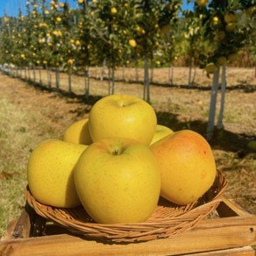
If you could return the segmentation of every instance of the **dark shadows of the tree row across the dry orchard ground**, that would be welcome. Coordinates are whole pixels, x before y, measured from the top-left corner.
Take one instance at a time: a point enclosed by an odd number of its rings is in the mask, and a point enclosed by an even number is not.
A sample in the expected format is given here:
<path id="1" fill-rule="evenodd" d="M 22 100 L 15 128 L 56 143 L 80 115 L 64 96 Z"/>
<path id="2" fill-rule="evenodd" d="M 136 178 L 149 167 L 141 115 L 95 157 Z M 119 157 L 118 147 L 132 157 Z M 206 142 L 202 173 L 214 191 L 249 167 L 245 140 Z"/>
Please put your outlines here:
<path id="1" fill-rule="evenodd" d="M 68 92 L 66 90 L 56 89 L 56 88 L 48 88 L 46 86 L 42 86 L 39 83 L 30 83 L 34 88 L 40 89 L 40 90 L 46 90 L 50 93 L 53 93 L 50 97 L 60 96 L 62 98 L 65 98 L 67 103 L 81 103 L 81 107 L 78 107 L 75 110 L 72 110 L 72 112 L 75 112 L 77 117 L 82 117 L 84 114 L 89 113 L 92 105 L 96 103 L 99 99 L 102 98 L 102 96 L 84 96 L 84 95 L 77 95 L 73 92 Z M 181 88 L 185 88 L 185 86 L 181 86 Z M 187 86 L 188 89 L 191 89 L 191 86 Z M 195 89 L 200 89 L 197 86 L 195 86 Z M 205 87 L 202 89 L 206 89 Z M 230 89 L 242 89 L 245 90 L 244 87 L 234 87 Z M 250 88 L 248 89 L 248 86 L 246 86 L 247 92 L 253 92 L 255 89 Z M 206 137 L 206 131 L 207 131 L 207 122 L 203 120 L 182 120 L 181 117 L 178 117 L 177 114 L 174 114 L 172 112 L 163 112 L 159 111 L 157 112 L 158 117 L 158 123 L 166 125 L 173 129 L 175 132 L 180 131 L 183 129 L 189 129 L 195 132 L 200 133 L 203 135 L 203 137 Z M 238 157 L 244 157 L 247 153 L 249 153 L 248 148 L 246 147 L 246 144 L 251 141 L 255 140 L 256 135 L 248 135 L 245 133 L 234 133 L 227 130 L 217 130 L 217 127 L 215 127 L 215 132 L 213 134 L 213 138 L 209 141 L 210 146 L 213 149 L 221 149 L 226 152 L 234 152 L 238 153 Z"/>

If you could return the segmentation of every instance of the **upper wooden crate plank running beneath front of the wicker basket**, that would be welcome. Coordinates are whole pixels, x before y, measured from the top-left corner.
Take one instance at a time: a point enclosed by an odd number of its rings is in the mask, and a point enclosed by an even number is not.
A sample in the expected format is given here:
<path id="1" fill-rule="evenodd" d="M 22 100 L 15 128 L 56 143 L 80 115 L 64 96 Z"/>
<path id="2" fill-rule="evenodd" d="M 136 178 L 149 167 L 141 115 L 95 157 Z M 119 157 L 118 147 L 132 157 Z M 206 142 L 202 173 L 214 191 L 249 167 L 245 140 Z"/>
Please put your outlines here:
<path id="1" fill-rule="evenodd" d="M 61 234 L 0 243 L 1 255 L 177 255 L 256 245 L 256 217 L 203 220 L 192 231 L 145 243 L 117 245 Z"/>

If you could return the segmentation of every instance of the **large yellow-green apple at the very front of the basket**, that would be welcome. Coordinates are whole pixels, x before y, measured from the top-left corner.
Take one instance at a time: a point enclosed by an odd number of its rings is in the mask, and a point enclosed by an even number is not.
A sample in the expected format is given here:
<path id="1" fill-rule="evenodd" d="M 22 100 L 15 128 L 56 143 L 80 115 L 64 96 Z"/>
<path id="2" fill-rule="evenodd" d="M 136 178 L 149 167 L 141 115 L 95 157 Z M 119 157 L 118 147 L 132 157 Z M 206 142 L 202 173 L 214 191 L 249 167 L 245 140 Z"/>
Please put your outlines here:
<path id="1" fill-rule="evenodd" d="M 160 197 L 160 169 L 148 146 L 134 139 L 102 139 L 78 160 L 75 188 L 96 223 L 144 222 Z"/>

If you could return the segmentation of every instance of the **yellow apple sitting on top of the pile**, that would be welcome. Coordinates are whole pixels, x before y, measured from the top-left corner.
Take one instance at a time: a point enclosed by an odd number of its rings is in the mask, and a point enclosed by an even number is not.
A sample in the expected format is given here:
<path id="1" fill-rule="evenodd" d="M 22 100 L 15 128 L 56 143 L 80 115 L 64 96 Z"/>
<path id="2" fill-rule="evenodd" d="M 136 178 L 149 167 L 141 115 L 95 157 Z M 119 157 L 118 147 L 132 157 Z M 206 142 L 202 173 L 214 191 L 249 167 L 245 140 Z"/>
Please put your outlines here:
<path id="1" fill-rule="evenodd" d="M 156 124 L 153 107 L 136 96 L 105 96 L 89 112 L 89 133 L 93 142 L 121 137 L 137 139 L 148 146 Z"/>

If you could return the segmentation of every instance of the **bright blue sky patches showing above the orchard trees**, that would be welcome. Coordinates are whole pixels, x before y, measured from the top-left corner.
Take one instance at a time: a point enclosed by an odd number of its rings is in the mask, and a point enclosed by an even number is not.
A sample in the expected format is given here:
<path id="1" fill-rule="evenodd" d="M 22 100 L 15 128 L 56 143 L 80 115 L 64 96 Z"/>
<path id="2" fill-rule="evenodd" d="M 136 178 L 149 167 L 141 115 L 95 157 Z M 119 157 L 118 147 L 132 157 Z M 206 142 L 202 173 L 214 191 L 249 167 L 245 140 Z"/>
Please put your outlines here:
<path id="1" fill-rule="evenodd" d="M 0 0 L 0 17 L 3 17 L 4 13 L 7 13 L 8 16 L 16 16 L 19 7 L 25 13 L 25 3 L 27 1 L 29 0 Z M 183 2 L 183 8 L 188 9 L 187 1 L 185 0 Z M 75 8 L 76 0 L 68 0 L 68 3 Z"/>

